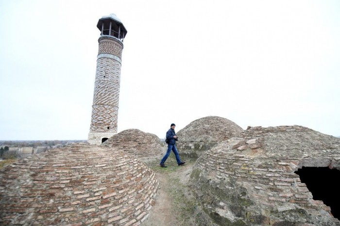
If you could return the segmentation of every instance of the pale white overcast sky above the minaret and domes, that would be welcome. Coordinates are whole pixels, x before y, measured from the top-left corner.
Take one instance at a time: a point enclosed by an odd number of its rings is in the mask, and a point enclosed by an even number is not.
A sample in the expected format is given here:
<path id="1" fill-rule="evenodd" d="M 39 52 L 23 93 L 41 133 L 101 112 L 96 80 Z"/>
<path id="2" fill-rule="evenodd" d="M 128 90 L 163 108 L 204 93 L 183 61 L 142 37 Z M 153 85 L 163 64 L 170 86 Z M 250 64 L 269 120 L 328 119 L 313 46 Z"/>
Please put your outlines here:
<path id="1" fill-rule="evenodd" d="M 212 115 L 340 136 L 339 0 L 0 0 L 0 140 L 87 140 L 111 13 L 118 132 Z"/>

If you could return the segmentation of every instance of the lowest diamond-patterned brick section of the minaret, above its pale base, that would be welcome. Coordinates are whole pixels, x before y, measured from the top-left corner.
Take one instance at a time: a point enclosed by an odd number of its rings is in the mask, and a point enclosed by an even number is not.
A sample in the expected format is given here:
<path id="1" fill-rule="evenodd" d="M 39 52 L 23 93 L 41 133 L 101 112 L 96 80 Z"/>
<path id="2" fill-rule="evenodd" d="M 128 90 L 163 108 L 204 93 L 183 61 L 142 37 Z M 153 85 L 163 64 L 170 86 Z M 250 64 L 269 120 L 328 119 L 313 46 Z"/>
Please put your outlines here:
<path id="1" fill-rule="evenodd" d="M 112 105 L 93 105 L 90 131 L 117 132 L 117 120 L 118 107 Z"/>

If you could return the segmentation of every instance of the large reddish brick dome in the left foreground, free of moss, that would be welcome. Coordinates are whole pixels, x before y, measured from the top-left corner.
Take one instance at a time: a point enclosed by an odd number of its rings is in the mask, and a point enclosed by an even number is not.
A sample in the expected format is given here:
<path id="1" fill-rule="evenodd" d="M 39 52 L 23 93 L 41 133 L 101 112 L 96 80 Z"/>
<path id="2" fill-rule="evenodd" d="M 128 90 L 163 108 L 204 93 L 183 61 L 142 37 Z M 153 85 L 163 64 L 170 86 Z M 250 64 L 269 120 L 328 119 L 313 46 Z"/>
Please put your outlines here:
<path id="1" fill-rule="evenodd" d="M 115 147 L 73 144 L 0 169 L 0 225 L 140 225 L 158 180 Z"/>

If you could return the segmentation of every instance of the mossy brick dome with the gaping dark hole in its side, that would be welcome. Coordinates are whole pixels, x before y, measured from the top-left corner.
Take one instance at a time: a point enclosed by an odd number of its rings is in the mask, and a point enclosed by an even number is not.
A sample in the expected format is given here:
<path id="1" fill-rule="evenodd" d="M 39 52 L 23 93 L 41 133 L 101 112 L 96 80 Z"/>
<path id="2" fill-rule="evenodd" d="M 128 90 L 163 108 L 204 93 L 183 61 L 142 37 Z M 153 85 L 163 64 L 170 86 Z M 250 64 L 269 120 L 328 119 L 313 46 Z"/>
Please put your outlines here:
<path id="1" fill-rule="evenodd" d="M 295 173 L 302 167 L 340 170 L 340 139 L 301 126 L 249 128 L 204 152 L 189 184 L 226 225 L 339 226 Z"/>

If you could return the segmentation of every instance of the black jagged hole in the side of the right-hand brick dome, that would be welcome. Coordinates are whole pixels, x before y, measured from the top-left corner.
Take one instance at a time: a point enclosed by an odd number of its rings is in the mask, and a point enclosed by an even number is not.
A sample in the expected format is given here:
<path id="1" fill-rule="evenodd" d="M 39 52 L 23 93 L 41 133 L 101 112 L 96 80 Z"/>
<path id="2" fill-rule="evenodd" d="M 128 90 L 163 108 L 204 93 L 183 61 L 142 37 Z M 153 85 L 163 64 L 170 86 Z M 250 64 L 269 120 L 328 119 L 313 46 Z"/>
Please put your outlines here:
<path id="1" fill-rule="evenodd" d="M 340 220 L 340 193 L 337 183 L 340 170 L 328 167 L 302 167 L 295 171 L 312 193 L 314 200 L 322 200 L 331 208 L 331 213 Z"/>

